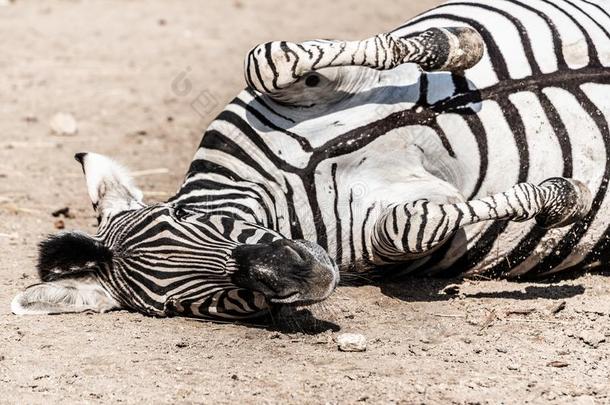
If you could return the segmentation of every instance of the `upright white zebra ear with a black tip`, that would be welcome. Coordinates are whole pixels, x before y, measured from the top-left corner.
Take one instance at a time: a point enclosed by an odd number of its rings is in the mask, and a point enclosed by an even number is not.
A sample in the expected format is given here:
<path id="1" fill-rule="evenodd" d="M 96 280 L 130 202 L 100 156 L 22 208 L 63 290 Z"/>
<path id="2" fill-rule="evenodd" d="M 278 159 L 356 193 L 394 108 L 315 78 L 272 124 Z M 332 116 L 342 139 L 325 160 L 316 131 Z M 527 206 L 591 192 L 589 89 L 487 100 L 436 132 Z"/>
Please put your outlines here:
<path id="1" fill-rule="evenodd" d="M 87 191 L 100 219 L 145 206 L 142 191 L 123 166 L 96 153 L 77 153 L 74 158 L 83 167 Z"/>

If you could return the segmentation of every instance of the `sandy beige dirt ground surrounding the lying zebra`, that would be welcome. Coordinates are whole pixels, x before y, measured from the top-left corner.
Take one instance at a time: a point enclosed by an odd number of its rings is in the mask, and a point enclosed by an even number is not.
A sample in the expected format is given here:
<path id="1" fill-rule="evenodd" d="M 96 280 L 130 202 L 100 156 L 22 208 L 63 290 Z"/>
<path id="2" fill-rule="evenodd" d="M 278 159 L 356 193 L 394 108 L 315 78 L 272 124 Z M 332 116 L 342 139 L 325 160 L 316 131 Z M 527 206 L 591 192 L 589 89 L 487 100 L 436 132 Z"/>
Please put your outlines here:
<path id="1" fill-rule="evenodd" d="M 0 402 L 610 403 L 607 276 L 341 287 L 272 327 L 10 314 L 53 211 L 95 230 L 75 152 L 116 157 L 165 199 L 250 47 L 369 36 L 434 3 L 0 0 Z M 50 133 L 58 112 L 76 135 Z M 338 351 L 342 332 L 366 352 Z"/>

